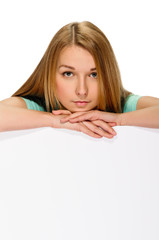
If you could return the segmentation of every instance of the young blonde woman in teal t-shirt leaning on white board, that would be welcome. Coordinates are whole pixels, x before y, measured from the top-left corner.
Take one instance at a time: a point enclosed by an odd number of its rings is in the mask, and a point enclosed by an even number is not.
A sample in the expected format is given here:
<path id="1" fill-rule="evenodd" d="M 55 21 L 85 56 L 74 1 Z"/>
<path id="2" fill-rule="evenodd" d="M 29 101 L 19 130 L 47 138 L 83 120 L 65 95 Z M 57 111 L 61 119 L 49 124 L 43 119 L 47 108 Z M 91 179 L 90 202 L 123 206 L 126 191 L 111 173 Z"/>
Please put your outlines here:
<path id="1" fill-rule="evenodd" d="M 53 37 L 29 79 L 0 102 L 0 131 L 67 128 L 112 138 L 114 126 L 159 128 L 159 99 L 124 89 L 112 47 L 90 22 Z"/>

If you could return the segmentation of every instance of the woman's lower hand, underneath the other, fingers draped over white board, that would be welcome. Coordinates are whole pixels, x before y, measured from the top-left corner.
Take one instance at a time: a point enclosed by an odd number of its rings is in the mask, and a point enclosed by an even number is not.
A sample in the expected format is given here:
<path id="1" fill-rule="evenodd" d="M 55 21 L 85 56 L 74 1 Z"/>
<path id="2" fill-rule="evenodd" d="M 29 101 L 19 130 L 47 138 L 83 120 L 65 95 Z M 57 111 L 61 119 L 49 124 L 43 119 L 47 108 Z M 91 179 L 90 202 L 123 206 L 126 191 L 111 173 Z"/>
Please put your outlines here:
<path id="1" fill-rule="evenodd" d="M 112 138 L 114 135 L 116 135 L 116 132 L 114 131 L 114 129 L 111 126 L 109 126 L 109 124 L 106 124 L 102 120 L 101 121 L 100 120 L 79 121 L 76 123 L 68 122 L 68 120 L 67 120 L 68 118 L 77 116 L 77 114 L 81 115 L 83 113 L 84 112 L 71 114 L 71 112 L 69 112 L 68 110 L 53 111 L 53 114 L 56 116 L 55 120 L 57 121 L 56 124 L 54 122 L 53 127 L 62 127 L 62 128 L 77 130 L 77 131 L 84 132 L 85 134 L 87 134 L 89 136 L 97 137 L 97 138 L 99 138 L 99 137 Z M 112 126 L 114 126 L 114 123 L 112 124 Z"/>

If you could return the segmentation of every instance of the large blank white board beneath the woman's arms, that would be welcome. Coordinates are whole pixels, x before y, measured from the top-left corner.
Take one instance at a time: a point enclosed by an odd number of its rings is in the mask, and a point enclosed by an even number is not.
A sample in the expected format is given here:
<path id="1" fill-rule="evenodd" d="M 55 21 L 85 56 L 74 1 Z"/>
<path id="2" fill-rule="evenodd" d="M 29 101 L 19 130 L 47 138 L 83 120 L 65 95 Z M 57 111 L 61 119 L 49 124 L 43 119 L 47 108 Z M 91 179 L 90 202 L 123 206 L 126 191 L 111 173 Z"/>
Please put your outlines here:
<path id="1" fill-rule="evenodd" d="M 159 129 L 0 134 L 1 240 L 158 240 Z"/>

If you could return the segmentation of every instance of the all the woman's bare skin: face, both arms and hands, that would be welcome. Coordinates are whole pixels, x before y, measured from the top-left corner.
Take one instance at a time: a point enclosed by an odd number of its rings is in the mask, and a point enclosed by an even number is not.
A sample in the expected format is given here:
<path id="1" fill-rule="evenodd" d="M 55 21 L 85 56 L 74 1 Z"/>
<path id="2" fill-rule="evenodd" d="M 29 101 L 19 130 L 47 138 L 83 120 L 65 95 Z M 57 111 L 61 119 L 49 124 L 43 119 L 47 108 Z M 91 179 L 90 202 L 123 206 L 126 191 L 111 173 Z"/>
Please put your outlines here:
<path id="1" fill-rule="evenodd" d="M 56 87 L 64 110 L 53 113 L 29 110 L 22 98 L 10 97 L 0 101 L 0 132 L 52 127 L 80 131 L 94 138 L 113 138 L 114 126 L 159 128 L 159 98 L 143 96 L 137 102 L 137 111 L 128 113 L 95 110 L 98 76 L 90 53 L 72 46 L 63 49 L 58 60 Z M 59 68 L 65 64 L 71 68 Z"/>

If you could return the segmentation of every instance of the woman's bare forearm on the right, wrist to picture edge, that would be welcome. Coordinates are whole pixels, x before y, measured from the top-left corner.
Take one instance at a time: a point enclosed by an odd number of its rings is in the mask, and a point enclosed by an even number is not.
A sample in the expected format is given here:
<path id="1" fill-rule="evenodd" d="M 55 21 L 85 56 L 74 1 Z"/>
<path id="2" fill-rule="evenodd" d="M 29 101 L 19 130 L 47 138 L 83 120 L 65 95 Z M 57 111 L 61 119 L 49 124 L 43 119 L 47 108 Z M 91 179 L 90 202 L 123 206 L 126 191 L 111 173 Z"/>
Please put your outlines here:
<path id="1" fill-rule="evenodd" d="M 159 106 L 122 113 L 120 125 L 159 128 Z"/>

